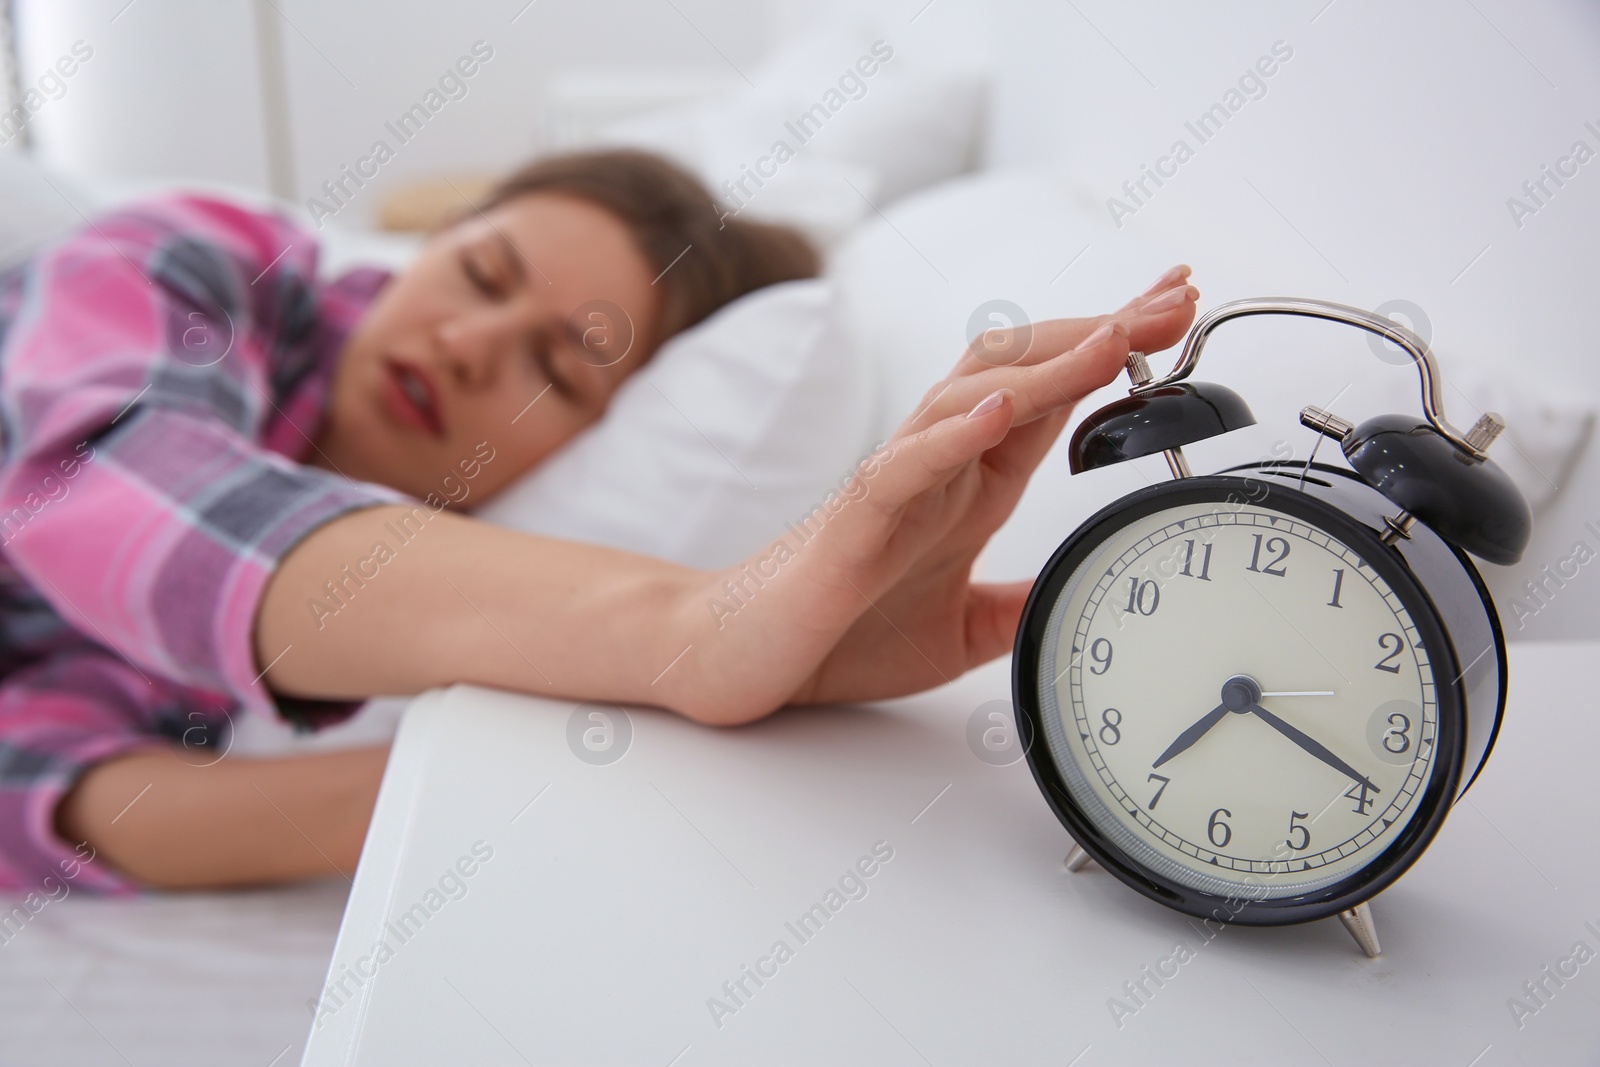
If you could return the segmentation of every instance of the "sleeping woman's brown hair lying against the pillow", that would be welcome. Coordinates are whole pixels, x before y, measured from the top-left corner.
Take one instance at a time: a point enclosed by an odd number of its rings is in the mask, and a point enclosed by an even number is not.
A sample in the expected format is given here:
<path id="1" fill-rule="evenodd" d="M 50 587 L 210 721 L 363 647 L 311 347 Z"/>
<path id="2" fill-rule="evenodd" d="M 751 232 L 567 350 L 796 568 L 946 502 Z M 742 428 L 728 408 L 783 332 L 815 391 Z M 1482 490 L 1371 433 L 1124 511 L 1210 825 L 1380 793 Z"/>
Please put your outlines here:
<path id="1" fill-rule="evenodd" d="M 659 275 L 661 338 L 778 282 L 813 278 L 819 258 L 798 230 L 726 214 L 677 163 L 630 149 L 557 155 L 506 176 L 482 205 L 530 194 L 587 200 L 616 216 Z"/>

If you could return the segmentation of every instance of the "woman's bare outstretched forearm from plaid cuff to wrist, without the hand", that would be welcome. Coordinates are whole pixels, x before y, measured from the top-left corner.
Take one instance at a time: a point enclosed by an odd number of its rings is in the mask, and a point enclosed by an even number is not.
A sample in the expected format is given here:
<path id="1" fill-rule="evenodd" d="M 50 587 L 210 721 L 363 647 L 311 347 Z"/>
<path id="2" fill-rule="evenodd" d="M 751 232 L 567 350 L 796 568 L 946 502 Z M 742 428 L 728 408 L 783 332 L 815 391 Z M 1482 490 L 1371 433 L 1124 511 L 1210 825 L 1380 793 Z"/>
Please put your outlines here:
<path id="1" fill-rule="evenodd" d="M 424 506 L 370 507 L 288 553 L 261 601 L 256 656 L 269 686 L 293 696 L 472 681 L 686 712 L 690 694 L 651 683 L 691 640 L 685 608 L 704 582 Z"/>

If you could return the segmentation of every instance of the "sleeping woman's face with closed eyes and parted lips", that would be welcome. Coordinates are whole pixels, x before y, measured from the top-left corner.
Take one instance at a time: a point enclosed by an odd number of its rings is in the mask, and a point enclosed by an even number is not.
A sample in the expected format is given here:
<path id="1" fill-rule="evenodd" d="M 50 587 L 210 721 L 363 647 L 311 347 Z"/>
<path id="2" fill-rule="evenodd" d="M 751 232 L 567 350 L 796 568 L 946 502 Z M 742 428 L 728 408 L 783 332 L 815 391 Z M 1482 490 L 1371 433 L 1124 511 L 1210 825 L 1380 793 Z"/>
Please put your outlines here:
<path id="1" fill-rule="evenodd" d="M 472 214 L 350 334 L 312 462 L 482 504 L 605 413 L 659 320 L 653 272 L 605 210 L 530 194 Z"/>

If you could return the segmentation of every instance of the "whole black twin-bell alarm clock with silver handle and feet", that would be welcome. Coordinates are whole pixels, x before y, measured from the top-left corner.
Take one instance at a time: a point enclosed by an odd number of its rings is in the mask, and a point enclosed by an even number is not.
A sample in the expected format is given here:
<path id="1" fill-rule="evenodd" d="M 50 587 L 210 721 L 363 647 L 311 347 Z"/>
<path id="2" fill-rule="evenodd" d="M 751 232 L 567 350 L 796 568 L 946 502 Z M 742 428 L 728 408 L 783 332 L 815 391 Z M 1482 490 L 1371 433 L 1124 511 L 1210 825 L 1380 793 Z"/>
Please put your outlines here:
<path id="1" fill-rule="evenodd" d="M 1194 475 L 1182 446 L 1251 426 L 1187 381 L 1246 315 L 1366 330 L 1405 350 L 1422 419 L 1301 422 L 1349 467 L 1270 461 Z M 1070 440 L 1072 474 L 1152 456 L 1170 482 L 1085 522 L 1024 608 L 1013 705 L 1034 779 L 1098 862 L 1187 915 L 1277 926 L 1338 915 L 1370 957 L 1370 901 L 1438 833 L 1506 705 L 1506 640 L 1470 557 L 1515 563 L 1531 514 L 1486 456 L 1494 414 L 1445 421 L 1427 344 L 1371 312 L 1296 298 L 1222 304 L 1176 368 L 1128 357 L 1125 400 Z"/>

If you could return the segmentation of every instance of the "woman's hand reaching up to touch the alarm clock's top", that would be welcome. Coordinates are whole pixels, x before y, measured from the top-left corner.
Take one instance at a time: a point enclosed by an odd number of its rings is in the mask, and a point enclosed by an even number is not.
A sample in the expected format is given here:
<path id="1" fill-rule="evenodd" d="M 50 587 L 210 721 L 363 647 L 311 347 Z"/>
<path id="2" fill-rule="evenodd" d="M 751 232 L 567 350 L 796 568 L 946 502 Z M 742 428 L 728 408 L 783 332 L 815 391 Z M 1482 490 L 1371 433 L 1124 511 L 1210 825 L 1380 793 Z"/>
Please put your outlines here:
<path id="1" fill-rule="evenodd" d="M 686 672 L 701 693 L 674 704 L 701 721 L 749 721 L 784 702 L 915 693 L 1010 651 L 1032 582 L 971 584 L 973 561 L 1074 405 L 1115 379 L 1130 349 L 1184 338 L 1198 296 L 1187 275 L 1168 270 L 1112 315 L 1037 323 L 1005 366 L 990 354 L 1014 336 L 974 341 L 814 537 L 757 557 L 776 573 L 757 582 L 747 561 L 715 576 L 715 645 Z M 734 595 L 717 601 L 728 581 Z"/>

